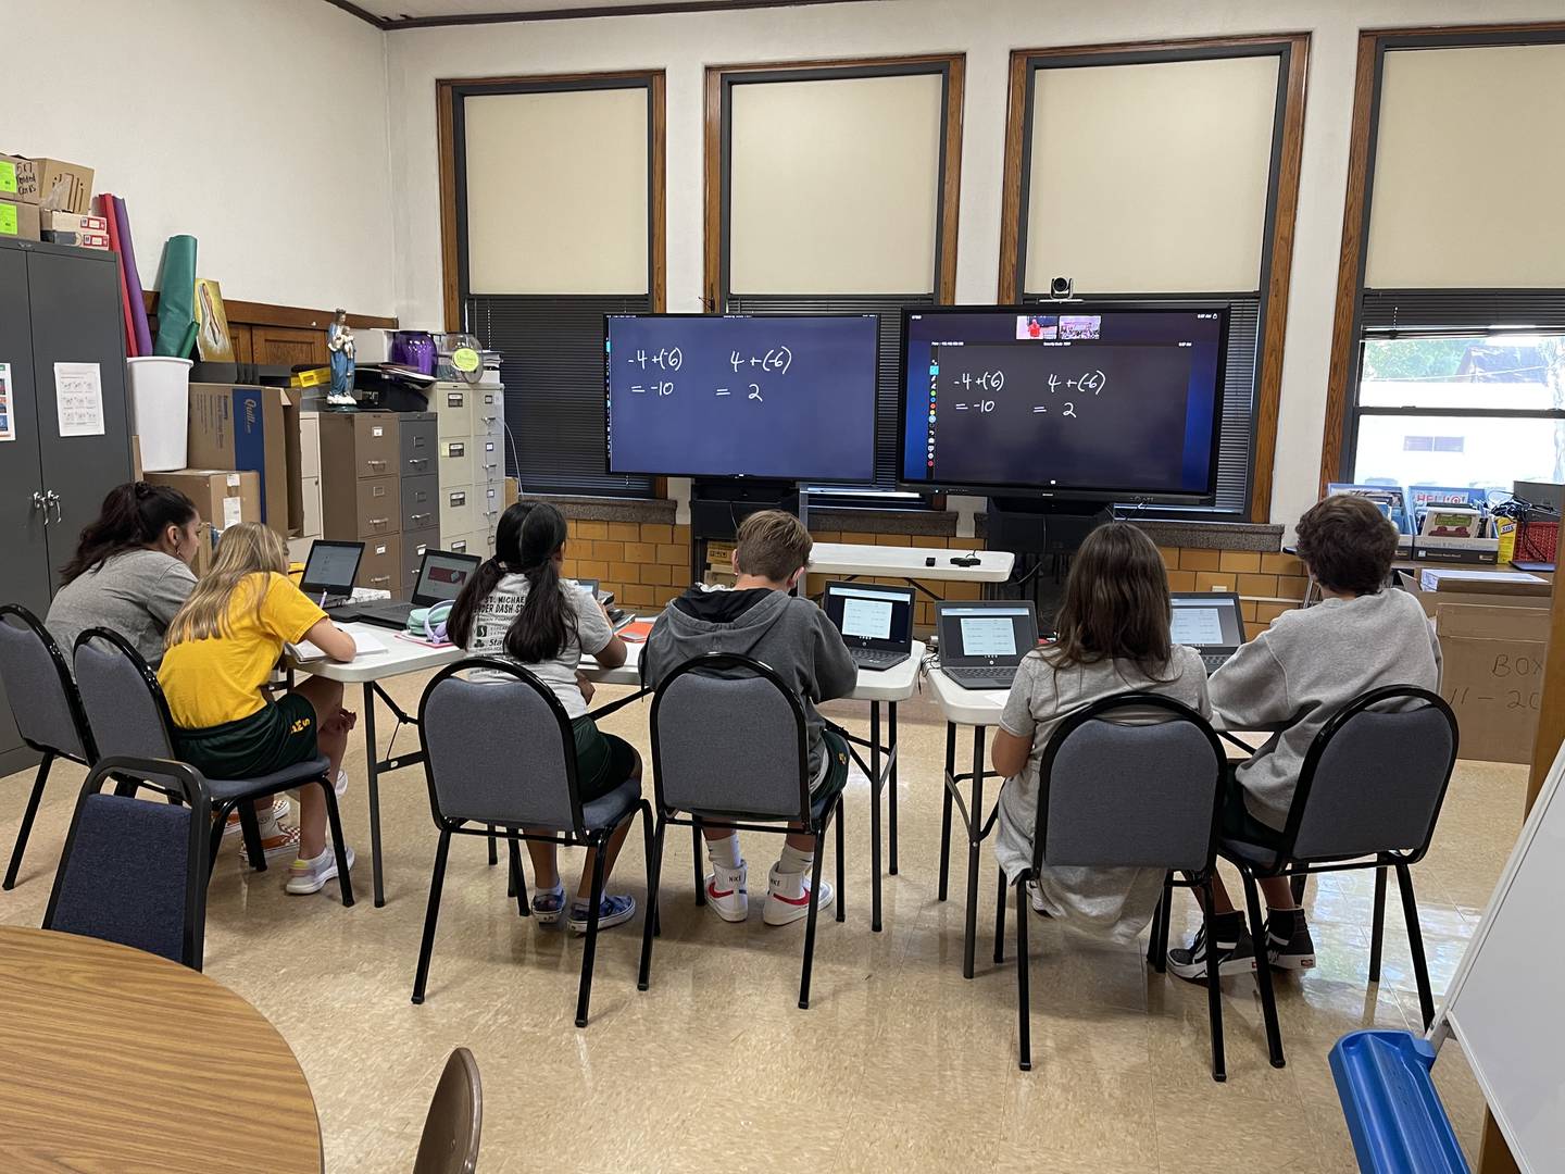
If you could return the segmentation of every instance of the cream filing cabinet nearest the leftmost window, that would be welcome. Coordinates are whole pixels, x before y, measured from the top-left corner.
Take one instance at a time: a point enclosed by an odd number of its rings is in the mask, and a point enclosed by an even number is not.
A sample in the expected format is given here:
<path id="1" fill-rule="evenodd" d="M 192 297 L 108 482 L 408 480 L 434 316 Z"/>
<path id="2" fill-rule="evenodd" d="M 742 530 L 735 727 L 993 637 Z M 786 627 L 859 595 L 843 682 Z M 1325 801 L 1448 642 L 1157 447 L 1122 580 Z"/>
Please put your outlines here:
<path id="1" fill-rule="evenodd" d="M 487 559 L 505 509 L 505 388 L 441 380 L 430 388 L 429 405 L 440 420 L 443 549 Z"/>

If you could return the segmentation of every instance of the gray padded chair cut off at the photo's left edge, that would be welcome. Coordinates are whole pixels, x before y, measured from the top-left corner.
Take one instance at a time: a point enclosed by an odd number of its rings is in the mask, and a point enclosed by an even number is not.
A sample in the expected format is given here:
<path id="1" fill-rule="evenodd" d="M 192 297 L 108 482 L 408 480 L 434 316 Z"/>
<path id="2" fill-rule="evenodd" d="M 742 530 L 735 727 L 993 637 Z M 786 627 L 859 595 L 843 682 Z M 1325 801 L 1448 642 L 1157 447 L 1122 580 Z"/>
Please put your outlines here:
<path id="1" fill-rule="evenodd" d="M 88 765 L 95 753 L 92 731 L 81 712 L 81 697 L 70 679 L 64 654 L 38 617 L 14 603 L 0 607 L 0 682 L 5 684 L 17 733 L 30 748 L 44 756 L 33 776 L 22 828 L 16 833 L 16 847 L 5 870 L 3 888 L 14 889 L 27 839 L 33 834 L 38 803 L 49 781 L 49 769 L 56 758 Z"/>

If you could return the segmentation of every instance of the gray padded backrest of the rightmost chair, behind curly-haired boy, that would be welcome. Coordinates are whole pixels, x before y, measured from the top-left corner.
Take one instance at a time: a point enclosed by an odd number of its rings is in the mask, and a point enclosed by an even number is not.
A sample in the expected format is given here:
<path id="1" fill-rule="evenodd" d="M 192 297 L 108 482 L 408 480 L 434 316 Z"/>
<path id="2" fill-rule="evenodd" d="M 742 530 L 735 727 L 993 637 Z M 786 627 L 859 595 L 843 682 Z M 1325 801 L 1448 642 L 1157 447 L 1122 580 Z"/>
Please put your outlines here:
<path id="1" fill-rule="evenodd" d="M 1423 845 L 1451 753 L 1451 726 L 1434 706 L 1347 718 L 1316 764 L 1293 855 L 1352 858 Z"/>

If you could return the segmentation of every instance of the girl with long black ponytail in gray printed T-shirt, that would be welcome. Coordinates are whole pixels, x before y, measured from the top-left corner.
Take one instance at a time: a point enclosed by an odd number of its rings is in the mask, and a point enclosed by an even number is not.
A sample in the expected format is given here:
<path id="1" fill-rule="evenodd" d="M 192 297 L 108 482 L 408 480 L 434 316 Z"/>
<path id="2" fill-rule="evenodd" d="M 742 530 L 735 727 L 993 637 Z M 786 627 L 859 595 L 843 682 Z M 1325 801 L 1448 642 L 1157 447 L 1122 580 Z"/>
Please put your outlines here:
<path id="1" fill-rule="evenodd" d="M 613 634 L 609 615 L 590 593 L 560 578 L 565 557 L 565 517 L 554 506 L 515 504 L 495 531 L 495 557 L 479 567 L 457 596 L 446 631 L 473 656 L 515 661 L 537 676 L 565 706 L 576 739 L 576 778 L 582 801 L 592 801 L 634 781 L 640 789 L 642 759 L 623 739 L 604 734 L 587 715 L 592 682 L 579 672 L 582 654 L 604 668 L 624 664 L 624 642 Z M 484 679 L 484 673 L 474 673 Z M 606 848 L 604 877 L 613 869 L 629 822 L 621 823 Z M 527 828 L 549 834 L 546 828 Z M 535 891 L 532 913 L 545 925 L 565 916 L 554 844 L 527 841 Z M 587 853 L 581 884 L 570 909 L 570 927 L 587 931 L 592 903 L 593 855 Z M 621 925 L 635 916 L 635 899 L 606 895 L 598 928 Z"/>

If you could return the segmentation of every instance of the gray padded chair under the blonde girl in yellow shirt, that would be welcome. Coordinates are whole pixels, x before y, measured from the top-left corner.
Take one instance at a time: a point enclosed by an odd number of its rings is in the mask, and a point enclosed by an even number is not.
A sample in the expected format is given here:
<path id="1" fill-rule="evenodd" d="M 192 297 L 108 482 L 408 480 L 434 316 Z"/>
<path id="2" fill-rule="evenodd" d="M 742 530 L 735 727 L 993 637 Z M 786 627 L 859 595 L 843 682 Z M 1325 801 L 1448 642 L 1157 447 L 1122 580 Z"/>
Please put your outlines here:
<path id="1" fill-rule="evenodd" d="M 108 628 L 88 628 L 77 637 L 75 648 L 77 687 L 88 720 L 94 725 L 94 742 L 100 754 L 113 758 L 152 758 L 178 761 L 174 748 L 174 718 L 163 697 L 158 675 L 141 659 L 141 654 L 119 632 Z M 318 784 L 326 794 L 326 817 L 336 852 L 336 878 L 343 905 L 354 903 L 354 881 L 347 873 L 347 853 L 343 847 L 343 820 L 336 809 L 336 789 L 327 775 L 326 758 L 257 778 L 205 778 L 202 783 L 211 800 L 211 845 L 208 870 L 218 862 L 222 848 L 222 830 L 228 812 L 238 809 L 239 826 L 244 830 L 250 866 L 266 870 L 266 853 L 261 852 L 257 833 L 254 800 L 271 798 L 283 790 Z M 197 772 L 199 775 L 200 772 Z M 156 780 L 121 773 L 119 794 L 135 794 L 142 783 L 156 786 Z M 172 794 L 171 798 L 178 798 Z"/>

